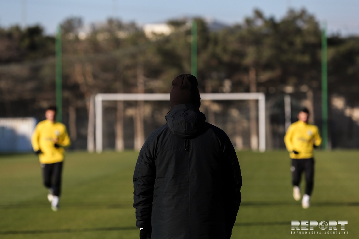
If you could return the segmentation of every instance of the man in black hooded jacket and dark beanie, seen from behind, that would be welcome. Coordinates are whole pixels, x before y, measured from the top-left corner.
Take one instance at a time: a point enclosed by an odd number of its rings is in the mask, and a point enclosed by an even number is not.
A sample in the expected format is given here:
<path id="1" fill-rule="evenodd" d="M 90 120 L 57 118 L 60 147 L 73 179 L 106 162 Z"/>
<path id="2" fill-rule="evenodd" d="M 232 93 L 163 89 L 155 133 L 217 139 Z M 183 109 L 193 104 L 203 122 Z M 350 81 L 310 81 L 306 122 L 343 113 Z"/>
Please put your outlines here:
<path id="1" fill-rule="evenodd" d="M 134 172 L 140 239 L 228 239 L 241 203 L 242 175 L 223 130 L 199 111 L 195 76 L 172 81 L 167 124 L 144 143 Z"/>

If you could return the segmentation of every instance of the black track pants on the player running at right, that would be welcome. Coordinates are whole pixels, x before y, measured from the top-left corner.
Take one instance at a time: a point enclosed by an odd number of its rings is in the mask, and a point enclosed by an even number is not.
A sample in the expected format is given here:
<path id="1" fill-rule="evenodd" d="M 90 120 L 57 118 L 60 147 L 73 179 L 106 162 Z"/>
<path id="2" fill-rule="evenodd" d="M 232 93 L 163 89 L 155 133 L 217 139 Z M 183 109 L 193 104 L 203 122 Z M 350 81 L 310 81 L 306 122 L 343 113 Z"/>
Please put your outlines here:
<path id="1" fill-rule="evenodd" d="M 314 184 L 314 159 L 293 159 L 292 158 L 293 186 L 299 186 L 302 172 L 306 176 L 306 194 L 311 195 Z"/>

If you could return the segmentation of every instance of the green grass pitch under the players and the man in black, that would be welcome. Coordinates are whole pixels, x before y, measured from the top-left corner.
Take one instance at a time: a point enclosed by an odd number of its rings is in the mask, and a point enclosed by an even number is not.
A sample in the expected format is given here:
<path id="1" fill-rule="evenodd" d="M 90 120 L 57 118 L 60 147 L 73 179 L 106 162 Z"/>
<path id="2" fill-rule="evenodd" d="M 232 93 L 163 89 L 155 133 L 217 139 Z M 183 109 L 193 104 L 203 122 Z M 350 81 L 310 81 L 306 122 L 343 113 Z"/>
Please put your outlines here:
<path id="1" fill-rule="evenodd" d="M 316 153 L 312 206 L 292 198 L 284 151 L 238 152 L 243 187 L 232 238 L 358 238 L 358 151 Z M 139 238 L 132 208 L 137 153 L 71 152 L 53 212 L 32 154 L 0 155 L 0 238 Z M 304 186 L 304 185 L 303 185 Z M 348 220 L 349 234 L 291 235 L 291 220 Z"/>

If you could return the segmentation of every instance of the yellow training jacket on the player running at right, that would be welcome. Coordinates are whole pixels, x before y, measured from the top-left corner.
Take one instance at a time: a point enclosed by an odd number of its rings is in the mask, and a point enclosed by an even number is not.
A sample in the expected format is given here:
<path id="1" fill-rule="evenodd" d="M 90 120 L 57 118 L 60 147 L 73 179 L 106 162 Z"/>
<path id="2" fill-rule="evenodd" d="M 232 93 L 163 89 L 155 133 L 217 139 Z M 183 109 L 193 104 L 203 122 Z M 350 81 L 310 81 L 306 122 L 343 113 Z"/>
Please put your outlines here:
<path id="1" fill-rule="evenodd" d="M 284 136 L 284 143 L 290 152 L 290 158 L 307 159 L 313 157 L 313 144 L 319 146 L 322 138 L 317 126 L 298 120 L 289 126 Z M 293 150 L 299 154 L 294 154 Z"/>

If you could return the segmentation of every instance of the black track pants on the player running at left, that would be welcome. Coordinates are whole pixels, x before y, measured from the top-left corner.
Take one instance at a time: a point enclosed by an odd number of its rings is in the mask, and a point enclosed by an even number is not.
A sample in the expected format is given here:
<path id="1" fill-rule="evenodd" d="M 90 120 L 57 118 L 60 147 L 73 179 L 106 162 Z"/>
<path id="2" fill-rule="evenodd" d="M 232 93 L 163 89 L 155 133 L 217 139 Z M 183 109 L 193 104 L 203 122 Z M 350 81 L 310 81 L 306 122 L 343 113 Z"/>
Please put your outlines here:
<path id="1" fill-rule="evenodd" d="M 61 193 L 62 164 L 63 162 L 41 164 L 45 187 L 52 188 L 53 195 L 58 197 Z"/>

